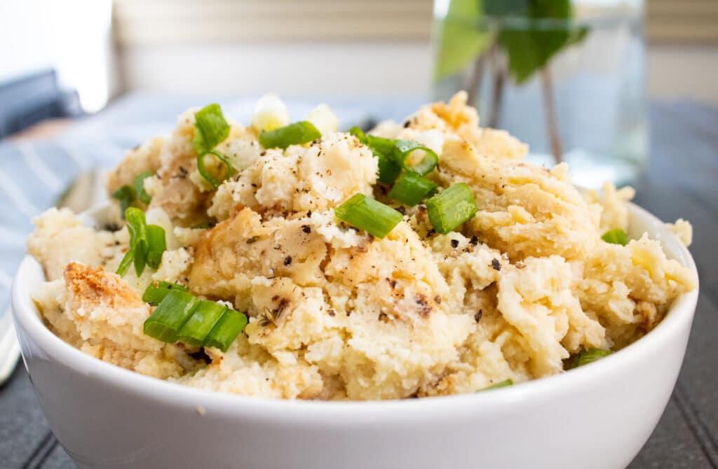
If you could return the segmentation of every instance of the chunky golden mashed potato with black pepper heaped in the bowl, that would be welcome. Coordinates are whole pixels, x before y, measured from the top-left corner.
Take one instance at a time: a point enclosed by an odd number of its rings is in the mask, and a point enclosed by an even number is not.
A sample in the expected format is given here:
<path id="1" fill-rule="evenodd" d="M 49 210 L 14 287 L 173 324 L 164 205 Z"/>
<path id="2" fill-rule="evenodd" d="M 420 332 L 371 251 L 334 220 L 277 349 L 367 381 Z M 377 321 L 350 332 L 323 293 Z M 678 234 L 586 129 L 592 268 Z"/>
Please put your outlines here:
<path id="1" fill-rule="evenodd" d="M 391 201 L 377 158 L 334 131 L 325 105 L 307 118 L 322 137 L 285 150 L 258 141 L 260 123 L 286 124 L 281 102 L 273 101 L 281 115 L 260 106 L 253 125 L 232 123 L 216 149 L 236 174 L 208 186 L 190 110 L 108 178 L 112 193 L 154 174 L 144 181 L 151 202 L 140 207 L 167 232 L 159 268 L 121 278 L 113 272 L 127 229 L 95 231 L 50 209 L 28 243 L 48 280 L 34 300 L 69 344 L 159 379 L 285 399 L 401 399 L 561 373 L 572 354 L 640 338 L 696 288 L 657 240 L 601 239 L 628 227 L 632 189 L 582 194 L 564 164 L 529 164 L 525 144 L 480 128 L 466 99 L 459 93 L 374 132 L 435 151 L 439 166 L 426 177 L 440 188 L 470 187 L 478 212 L 455 232 L 437 234 L 422 204 Z M 381 239 L 338 222 L 333 209 L 357 193 L 401 208 L 404 219 Z M 671 229 L 690 242 L 690 224 Z M 248 325 L 224 353 L 146 336 L 153 307 L 141 294 L 153 280 L 229 302 Z"/>

